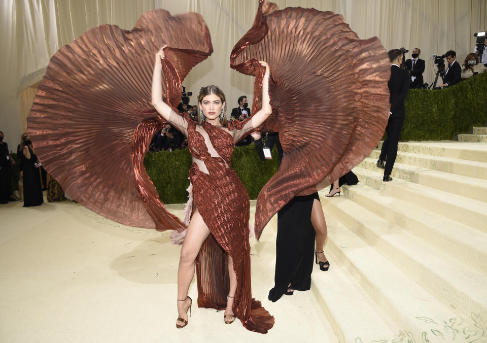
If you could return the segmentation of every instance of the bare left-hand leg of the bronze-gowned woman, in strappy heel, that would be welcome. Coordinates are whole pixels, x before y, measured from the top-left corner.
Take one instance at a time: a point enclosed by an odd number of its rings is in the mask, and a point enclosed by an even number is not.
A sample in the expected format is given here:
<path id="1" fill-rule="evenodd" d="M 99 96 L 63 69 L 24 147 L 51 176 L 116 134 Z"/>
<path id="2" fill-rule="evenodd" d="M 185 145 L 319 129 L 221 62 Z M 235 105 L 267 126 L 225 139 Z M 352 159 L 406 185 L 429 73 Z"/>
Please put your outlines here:
<path id="1" fill-rule="evenodd" d="M 184 237 L 183 247 L 181 248 L 178 268 L 178 300 L 184 300 L 188 297 L 189 285 L 194 277 L 194 260 L 198 256 L 201 245 L 209 234 L 210 230 L 204 223 L 198 210 L 195 210 L 189 222 L 186 236 Z M 186 301 L 178 301 L 179 318 L 188 320 L 186 310 L 189 305 L 189 299 Z M 184 325 L 181 321 L 177 321 L 177 324 Z"/>

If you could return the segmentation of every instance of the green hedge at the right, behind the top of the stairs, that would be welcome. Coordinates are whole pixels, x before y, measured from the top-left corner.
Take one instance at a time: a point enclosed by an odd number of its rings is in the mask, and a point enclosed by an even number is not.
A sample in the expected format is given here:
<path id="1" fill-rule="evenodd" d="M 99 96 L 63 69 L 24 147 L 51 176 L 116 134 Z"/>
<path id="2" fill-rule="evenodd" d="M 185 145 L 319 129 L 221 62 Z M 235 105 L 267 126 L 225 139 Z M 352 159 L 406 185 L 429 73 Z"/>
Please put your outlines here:
<path id="1" fill-rule="evenodd" d="M 411 89 L 401 141 L 453 140 L 487 125 L 487 73 L 445 89 Z"/>

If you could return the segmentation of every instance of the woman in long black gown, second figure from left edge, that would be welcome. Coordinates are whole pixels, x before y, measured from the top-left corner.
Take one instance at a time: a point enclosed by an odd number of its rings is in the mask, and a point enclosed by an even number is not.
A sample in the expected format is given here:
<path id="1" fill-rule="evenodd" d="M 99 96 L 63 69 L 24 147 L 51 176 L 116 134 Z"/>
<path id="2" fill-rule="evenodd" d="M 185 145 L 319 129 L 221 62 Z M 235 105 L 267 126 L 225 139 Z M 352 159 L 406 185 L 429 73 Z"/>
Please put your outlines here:
<path id="1" fill-rule="evenodd" d="M 41 175 L 39 173 L 39 163 L 36 152 L 32 147 L 32 142 L 27 135 L 24 140 L 22 151 L 22 174 L 24 180 L 24 207 L 39 206 L 44 202 L 42 195 Z"/>

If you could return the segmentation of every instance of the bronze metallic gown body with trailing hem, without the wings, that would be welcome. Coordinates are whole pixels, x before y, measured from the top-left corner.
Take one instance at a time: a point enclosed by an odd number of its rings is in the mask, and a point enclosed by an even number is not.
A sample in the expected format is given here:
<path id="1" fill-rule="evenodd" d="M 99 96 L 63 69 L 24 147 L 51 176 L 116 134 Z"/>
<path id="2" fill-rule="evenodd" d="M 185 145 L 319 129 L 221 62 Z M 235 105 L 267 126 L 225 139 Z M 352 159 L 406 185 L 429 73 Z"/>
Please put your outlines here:
<path id="1" fill-rule="evenodd" d="M 189 178 L 193 185 L 193 204 L 197 207 L 211 235 L 201 247 L 196 260 L 198 306 L 224 310 L 229 294 L 228 255 L 233 259 L 237 279 L 233 313 L 248 330 L 266 333 L 274 318 L 252 298 L 250 273 L 249 215 L 250 201 L 235 170 L 231 169 L 233 137 L 226 131 L 204 122 L 212 146 L 221 157 L 213 157 L 196 123 L 188 122 L 188 148 L 193 157 L 204 161 L 208 174 L 193 163 Z M 228 124 L 241 129 L 246 122 Z M 229 167 L 227 168 L 226 165 Z"/>

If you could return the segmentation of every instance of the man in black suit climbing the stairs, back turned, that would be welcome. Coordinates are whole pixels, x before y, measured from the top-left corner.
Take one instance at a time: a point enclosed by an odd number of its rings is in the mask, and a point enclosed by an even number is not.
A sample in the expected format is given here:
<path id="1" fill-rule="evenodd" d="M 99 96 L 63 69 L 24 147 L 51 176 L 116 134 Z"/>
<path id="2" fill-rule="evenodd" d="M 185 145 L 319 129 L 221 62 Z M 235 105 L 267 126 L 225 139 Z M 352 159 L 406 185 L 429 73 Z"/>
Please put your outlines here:
<path id="1" fill-rule="evenodd" d="M 402 50 L 394 49 L 388 53 L 391 59 L 391 78 L 387 83 L 389 87 L 389 102 L 391 104 L 391 111 L 389 120 L 387 122 L 387 137 L 382 144 L 382 150 L 377 161 L 377 166 L 384 168 L 383 181 L 391 181 L 391 172 L 397 155 L 397 144 L 401 136 L 402 123 L 406 114 L 404 109 L 404 100 L 409 91 L 409 72 L 401 69 L 402 64 Z M 384 166 L 386 161 L 386 166 Z"/>

